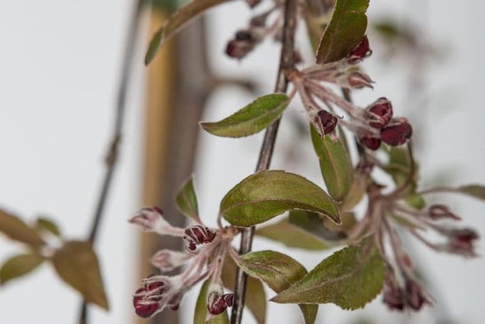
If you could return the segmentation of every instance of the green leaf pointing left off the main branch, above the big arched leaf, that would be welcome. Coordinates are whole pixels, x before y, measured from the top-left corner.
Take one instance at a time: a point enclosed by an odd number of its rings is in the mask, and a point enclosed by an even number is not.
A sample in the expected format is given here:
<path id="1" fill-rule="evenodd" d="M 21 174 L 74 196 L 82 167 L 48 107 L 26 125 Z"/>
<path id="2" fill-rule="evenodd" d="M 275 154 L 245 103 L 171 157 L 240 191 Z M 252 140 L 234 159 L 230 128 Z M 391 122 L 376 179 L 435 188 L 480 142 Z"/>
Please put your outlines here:
<path id="1" fill-rule="evenodd" d="M 222 137 L 244 137 L 267 128 L 290 103 L 286 94 L 266 94 L 231 116 L 215 123 L 200 123 L 207 132 Z"/>

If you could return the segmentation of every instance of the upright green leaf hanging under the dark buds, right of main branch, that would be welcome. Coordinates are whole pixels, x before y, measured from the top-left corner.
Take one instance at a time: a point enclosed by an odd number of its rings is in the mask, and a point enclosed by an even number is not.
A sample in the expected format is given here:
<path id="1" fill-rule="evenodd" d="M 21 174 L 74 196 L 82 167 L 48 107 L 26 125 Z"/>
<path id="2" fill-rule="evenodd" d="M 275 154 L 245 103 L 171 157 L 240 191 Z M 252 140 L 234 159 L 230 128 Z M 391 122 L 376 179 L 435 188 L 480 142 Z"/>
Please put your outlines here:
<path id="1" fill-rule="evenodd" d="M 353 166 L 344 143 L 332 142 L 330 137 L 320 137 L 317 128 L 310 125 L 313 148 L 317 153 L 321 175 L 324 177 L 328 194 L 335 201 L 342 201 L 352 185 Z"/>

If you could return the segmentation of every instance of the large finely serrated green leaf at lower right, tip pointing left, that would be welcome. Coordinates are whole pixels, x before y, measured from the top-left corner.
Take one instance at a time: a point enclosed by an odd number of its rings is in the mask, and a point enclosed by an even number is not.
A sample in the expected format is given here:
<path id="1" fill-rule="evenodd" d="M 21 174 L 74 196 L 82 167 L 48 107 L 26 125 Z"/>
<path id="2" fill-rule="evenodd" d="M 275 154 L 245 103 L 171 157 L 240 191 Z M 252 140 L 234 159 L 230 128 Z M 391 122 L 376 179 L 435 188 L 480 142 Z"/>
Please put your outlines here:
<path id="1" fill-rule="evenodd" d="M 306 277 L 272 298 L 274 302 L 323 304 L 333 302 L 343 309 L 364 307 L 380 291 L 385 280 L 385 260 L 364 239 L 320 262 Z"/>

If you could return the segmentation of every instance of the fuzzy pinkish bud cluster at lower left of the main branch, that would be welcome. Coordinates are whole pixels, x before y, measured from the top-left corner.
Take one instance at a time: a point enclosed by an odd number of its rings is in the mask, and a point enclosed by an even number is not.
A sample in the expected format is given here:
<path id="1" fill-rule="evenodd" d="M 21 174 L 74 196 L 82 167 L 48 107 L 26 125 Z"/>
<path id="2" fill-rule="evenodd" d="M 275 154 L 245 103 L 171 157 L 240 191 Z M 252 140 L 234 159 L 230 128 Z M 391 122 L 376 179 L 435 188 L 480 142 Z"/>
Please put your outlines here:
<path id="1" fill-rule="evenodd" d="M 161 235 L 172 235 L 184 240 L 186 252 L 174 250 L 159 250 L 150 259 L 152 265 L 162 272 L 187 264 L 180 275 L 149 275 L 142 280 L 144 286 L 133 296 L 133 306 L 137 315 L 148 318 L 161 312 L 166 307 L 176 310 L 184 293 L 204 278 L 211 276 L 213 282 L 220 282 L 222 260 L 227 251 L 227 241 L 222 239 L 219 230 L 208 228 L 202 224 L 188 228 L 176 228 L 162 215 L 158 207 L 143 207 L 137 212 L 131 223 L 140 225 L 145 230 Z M 227 232 L 226 237 L 236 233 Z M 200 248 L 197 248 L 200 246 Z M 205 269 L 205 270 L 204 270 Z M 233 303 L 233 294 L 224 294 L 222 285 L 211 284 L 208 292 L 207 309 L 211 316 L 224 312 Z"/>

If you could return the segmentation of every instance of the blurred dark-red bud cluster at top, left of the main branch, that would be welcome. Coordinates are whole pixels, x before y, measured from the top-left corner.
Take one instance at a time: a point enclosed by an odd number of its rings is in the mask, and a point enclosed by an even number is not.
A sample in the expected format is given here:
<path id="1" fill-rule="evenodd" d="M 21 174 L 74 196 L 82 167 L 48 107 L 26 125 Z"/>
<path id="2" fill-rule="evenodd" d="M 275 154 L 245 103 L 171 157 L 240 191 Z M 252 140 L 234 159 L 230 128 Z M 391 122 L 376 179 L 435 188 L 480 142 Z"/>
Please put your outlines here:
<path id="1" fill-rule="evenodd" d="M 258 3 L 258 0 L 248 0 L 249 6 L 256 6 Z M 267 26 L 267 18 L 275 11 L 279 12 L 279 17 L 276 17 L 275 21 Z M 267 35 L 276 34 L 281 29 L 283 22 L 281 15 L 280 6 L 274 6 L 274 8 L 254 16 L 247 28 L 237 31 L 233 39 L 229 40 L 226 46 L 226 54 L 231 58 L 245 57 Z"/>

